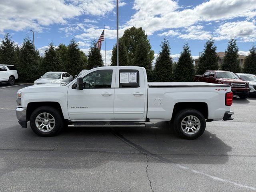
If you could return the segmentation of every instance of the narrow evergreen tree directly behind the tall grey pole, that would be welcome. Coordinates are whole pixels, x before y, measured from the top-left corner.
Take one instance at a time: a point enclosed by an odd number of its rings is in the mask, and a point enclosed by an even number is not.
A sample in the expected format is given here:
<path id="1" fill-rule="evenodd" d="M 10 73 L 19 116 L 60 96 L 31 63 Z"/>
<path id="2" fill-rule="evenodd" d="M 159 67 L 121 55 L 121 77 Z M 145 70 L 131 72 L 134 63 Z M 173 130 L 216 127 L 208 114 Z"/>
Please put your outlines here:
<path id="1" fill-rule="evenodd" d="M 128 66 L 129 61 L 128 61 L 128 53 L 124 44 L 124 41 L 122 39 L 119 39 L 119 60 L 118 64 L 119 66 Z M 111 66 L 116 66 L 116 44 L 114 45 L 114 48 L 112 50 L 112 56 L 111 56 Z"/>

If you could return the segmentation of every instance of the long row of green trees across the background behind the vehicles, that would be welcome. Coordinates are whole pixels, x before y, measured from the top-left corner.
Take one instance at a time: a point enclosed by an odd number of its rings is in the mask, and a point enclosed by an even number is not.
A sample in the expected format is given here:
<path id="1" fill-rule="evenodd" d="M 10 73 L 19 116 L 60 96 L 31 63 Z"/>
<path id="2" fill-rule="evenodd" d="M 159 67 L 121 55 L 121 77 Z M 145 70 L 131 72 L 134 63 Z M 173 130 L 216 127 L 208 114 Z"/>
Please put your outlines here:
<path id="1" fill-rule="evenodd" d="M 149 82 L 189 82 L 194 80 L 195 74 L 219 69 L 256 74 L 256 47 L 252 46 L 241 68 L 238 61 L 238 46 L 234 37 L 228 41 L 221 66 L 218 64 L 218 59 L 214 40 L 210 38 L 206 41 L 196 66 L 194 66 L 188 43 L 184 43 L 178 61 L 174 62 L 170 53 L 170 44 L 164 38 L 153 69 L 154 51 L 142 28 L 126 29 L 119 38 L 119 66 L 144 67 Z M 0 45 L 0 64 L 16 66 L 20 82 L 33 82 L 48 71 L 66 71 L 74 76 L 82 69 L 104 66 L 95 40 L 91 43 L 88 56 L 80 50 L 74 38 L 67 46 L 60 44 L 56 47 L 50 43 L 44 56 L 40 56 L 30 38 L 24 38 L 22 45 L 19 46 L 8 33 Z M 111 66 L 116 66 L 116 45 L 112 50 Z"/>

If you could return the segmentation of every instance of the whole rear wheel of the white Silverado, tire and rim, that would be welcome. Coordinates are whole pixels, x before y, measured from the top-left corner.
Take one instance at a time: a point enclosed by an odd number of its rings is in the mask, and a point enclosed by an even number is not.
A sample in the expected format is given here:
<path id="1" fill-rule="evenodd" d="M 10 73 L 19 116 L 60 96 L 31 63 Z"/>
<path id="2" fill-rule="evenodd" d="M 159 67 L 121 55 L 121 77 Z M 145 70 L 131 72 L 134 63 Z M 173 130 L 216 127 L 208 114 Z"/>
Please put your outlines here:
<path id="1" fill-rule="evenodd" d="M 194 109 L 180 110 L 174 117 L 175 132 L 184 139 L 196 139 L 205 130 L 206 121 L 201 112 Z"/>

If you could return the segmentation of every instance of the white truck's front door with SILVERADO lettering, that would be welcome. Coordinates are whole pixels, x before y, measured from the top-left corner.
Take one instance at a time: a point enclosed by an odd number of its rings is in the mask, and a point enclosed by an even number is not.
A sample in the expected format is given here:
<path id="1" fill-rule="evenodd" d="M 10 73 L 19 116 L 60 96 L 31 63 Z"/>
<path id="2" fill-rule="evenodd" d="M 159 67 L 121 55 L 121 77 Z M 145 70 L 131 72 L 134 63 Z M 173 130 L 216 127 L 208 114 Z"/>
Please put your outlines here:
<path id="1" fill-rule="evenodd" d="M 114 119 L 116 68 L 106 68 L 83 76 L 84 90 L 68 88 L 68 114 L 71 120 Z"/>

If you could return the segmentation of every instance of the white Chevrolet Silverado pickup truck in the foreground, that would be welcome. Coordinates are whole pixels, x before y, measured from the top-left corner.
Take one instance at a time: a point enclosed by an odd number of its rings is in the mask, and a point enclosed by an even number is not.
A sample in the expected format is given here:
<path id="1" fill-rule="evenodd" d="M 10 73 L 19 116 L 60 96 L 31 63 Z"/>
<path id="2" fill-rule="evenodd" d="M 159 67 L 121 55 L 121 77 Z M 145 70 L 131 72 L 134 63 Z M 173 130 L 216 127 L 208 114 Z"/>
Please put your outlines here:
<path id="1" fill-rule="evenodd" d="M 195 139 L 206 122 L 232 120 L 229 85 L 203 82 L 148 83 L 142 67 L 99 67 L 70 83 L 42 84 L 17 93 L 16 116 L 40 136 L 68 127 L 145 126 L 171 121 L 176 132 Z"/>

